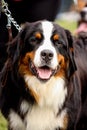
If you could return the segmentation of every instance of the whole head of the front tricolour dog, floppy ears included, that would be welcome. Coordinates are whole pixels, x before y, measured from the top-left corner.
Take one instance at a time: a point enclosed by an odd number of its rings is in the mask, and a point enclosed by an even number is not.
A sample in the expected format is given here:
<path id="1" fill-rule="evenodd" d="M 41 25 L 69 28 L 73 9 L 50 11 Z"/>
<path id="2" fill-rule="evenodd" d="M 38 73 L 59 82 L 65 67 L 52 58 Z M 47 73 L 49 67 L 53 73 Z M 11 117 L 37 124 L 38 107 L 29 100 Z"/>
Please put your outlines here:
<path id="1" fill-rule="evenodd" d="M 73 39 L 70 32 L 49 21 L 26 23 L 9 45 L 12 63 L 18 72 L 47 81 L 52 76 L 70 77 L 75 71 Z"/>

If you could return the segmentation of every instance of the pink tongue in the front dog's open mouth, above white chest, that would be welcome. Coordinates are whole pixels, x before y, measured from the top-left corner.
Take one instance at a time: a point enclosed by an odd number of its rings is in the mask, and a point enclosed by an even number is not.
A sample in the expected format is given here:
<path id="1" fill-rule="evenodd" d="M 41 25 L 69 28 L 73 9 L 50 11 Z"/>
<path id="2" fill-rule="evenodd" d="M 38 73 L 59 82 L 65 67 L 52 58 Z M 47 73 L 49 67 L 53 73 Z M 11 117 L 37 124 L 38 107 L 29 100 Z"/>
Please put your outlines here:
<path id="1" fill-rule="evenodd" d="M 41 69 L 39 68 L 37 70 L 38 72 L 38 75 L 41 79 L 49 79 L 51 74 L 52 74 L 52 71 L 50 69 Z"/>

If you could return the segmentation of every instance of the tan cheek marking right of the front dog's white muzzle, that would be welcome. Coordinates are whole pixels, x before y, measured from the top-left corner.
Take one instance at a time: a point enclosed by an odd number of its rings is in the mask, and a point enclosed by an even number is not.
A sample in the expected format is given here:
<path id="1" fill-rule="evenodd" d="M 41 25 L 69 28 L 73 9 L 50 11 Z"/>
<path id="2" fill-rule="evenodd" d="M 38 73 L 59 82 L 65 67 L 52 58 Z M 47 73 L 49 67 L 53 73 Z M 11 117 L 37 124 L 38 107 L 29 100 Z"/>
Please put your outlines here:
<path id="1" fill-rule="evenodd" d="M 67 69 L 67 62 L 65 61 L 64 56 L 61 54 L 58 55 L 58 61 L 59 61 L 59 71 L 55 76 L 59 77 L 65 77 L 66 69 Z"/>

